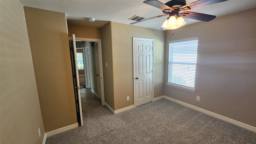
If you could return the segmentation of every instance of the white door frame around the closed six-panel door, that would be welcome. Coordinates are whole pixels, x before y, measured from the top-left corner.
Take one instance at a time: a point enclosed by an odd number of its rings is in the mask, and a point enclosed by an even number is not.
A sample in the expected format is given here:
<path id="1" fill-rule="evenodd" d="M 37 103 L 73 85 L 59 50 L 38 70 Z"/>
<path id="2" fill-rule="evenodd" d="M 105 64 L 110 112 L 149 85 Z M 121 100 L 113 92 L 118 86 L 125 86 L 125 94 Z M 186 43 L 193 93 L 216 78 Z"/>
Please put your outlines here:
<path id="1" fill-rule="evenodd" d="M 132 52 L 133 52 L 133 92 L 134 92 L 134 107 L 136 107 L 136 92 L 135 92 L 135 72 L 134 72 L 134 66 L 135 66 L 135 57 L 134 57 L 134 41 L 135 40 L 152 40 L 153 41 L 153 50 L 152 50 L 152 102 L 154 101 L 154 48 L 155 48 L 155 41 L 154 39 L 150 38 L 136 38 L 132 37 Z"/>

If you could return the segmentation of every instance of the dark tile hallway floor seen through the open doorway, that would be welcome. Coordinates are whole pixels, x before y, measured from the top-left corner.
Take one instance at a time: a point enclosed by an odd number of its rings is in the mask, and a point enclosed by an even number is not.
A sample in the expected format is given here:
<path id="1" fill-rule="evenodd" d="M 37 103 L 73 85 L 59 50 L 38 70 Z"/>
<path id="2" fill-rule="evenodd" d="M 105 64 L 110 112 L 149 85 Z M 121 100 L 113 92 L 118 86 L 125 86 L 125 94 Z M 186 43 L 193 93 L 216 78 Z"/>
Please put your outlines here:
<path id="1" fill-rule="evenodd" d="M 81 88 L 82 111 L 101 106 L 101 100 L 92 93 L 91 88 Z"/>

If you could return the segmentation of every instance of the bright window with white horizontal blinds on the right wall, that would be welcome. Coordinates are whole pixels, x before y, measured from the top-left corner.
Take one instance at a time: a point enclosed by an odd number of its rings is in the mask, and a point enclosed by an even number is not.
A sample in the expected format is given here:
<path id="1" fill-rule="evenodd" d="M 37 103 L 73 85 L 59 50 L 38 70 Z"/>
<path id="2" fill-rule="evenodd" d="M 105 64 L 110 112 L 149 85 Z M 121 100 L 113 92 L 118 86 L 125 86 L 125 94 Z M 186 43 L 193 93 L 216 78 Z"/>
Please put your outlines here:
<path id="1" fill-rule="evenodd" d="M 169 43 L 168 86 L 195 92 L 198 38 Z"/>

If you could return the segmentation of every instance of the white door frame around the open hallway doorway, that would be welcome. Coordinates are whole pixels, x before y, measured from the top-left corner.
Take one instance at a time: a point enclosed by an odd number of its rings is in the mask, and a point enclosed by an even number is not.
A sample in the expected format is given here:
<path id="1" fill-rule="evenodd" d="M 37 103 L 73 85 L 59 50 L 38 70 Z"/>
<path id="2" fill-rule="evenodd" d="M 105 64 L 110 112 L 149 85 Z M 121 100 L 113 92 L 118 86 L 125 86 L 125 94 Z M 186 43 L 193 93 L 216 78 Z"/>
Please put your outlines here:
<path id="1" fill-rule="evenodd" d="M 71 39 L 71 37 L 70 37 Z M 101 104 L 104 106 L 106 105 L 105 103 L 105 95 L 104 95 L 104 78 L 103 78 L 103 65 L 102 65 L 102 47 L 101 47 L 101 39 L 96 39 L 96 38 L 77 38 L 76 40 L 81 40 L 81 41 L 87 41 L 87 42 L 98 42 L 99 46 L 99 58 L 100 58 L 100 86 L 101 86 Z"/>

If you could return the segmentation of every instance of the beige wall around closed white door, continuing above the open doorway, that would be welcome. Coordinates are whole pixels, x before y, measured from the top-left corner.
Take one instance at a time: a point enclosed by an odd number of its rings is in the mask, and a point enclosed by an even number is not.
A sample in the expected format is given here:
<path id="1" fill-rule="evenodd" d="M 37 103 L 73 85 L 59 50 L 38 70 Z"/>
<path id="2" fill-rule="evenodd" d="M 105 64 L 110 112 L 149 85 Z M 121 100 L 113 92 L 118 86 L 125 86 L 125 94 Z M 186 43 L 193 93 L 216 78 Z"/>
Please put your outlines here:
<path id="1" fill-rule="evenodd" d="M 102 32 L 100 35 L 97 32 Z M 69 35 L 102 39 L 105 102 L 118 110 L 134 104 L 132 37 L 152 38 L 154 49 L 154 97 L 162 96 L 164 81 L 164 32 L 116 22 L 103 28 L 68 25 Z M 95 34 L 97 36 L 95 36 Z M 123 55 L 125 54 L 125 55 Z M 108 67 L 106 68 L 106 63 Z M 130 100 L 126 101 L 126 96 Z"/>

